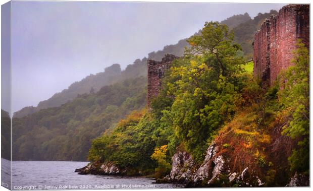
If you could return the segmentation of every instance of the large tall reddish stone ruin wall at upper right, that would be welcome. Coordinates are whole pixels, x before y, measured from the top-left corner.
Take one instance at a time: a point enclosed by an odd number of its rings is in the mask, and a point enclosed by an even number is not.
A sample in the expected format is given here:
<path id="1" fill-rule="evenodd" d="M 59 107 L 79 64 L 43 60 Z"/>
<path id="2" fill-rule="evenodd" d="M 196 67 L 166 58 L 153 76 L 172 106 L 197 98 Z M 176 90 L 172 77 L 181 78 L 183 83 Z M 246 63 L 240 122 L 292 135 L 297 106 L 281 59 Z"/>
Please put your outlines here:
<path id="1" fill-rule="evenodd" d="M 271 16 L 254 35 L 254 76 L 271 85 L 292 65 L 297 39 L 309 48 L 309 5 L 288 5 Z"/>

